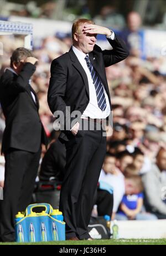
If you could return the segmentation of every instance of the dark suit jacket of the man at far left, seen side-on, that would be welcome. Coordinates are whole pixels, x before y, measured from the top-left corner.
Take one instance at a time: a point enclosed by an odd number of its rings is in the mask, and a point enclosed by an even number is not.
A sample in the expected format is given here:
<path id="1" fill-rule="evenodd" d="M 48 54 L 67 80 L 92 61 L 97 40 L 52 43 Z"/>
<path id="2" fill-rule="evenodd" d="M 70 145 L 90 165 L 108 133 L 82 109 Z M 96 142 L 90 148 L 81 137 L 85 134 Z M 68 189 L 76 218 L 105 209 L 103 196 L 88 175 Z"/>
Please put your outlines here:
<path id="1" fill-rule="evenodd" d="M 6 118 L 6 128 L 3 133 L 2 152 L 10 147 L 37 152 L 41 142 L 46 145 L 46 135 L 38 114 L 39 102 L 29 79 L 35 71 L 35 66 L 26 63 L 15 75 L 6 70 L 0 79 L 0 102 Z M 33 91 L 36 104 L 33 100 Z"/>

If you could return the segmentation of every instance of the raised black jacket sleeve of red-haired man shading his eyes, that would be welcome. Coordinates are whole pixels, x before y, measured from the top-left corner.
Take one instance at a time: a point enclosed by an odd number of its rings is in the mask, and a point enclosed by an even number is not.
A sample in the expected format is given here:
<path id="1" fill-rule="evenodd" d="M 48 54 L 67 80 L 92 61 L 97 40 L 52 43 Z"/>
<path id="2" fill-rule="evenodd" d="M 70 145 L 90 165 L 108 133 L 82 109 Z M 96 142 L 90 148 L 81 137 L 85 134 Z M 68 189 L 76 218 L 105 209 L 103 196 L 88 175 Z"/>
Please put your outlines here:
<path id="1" fill-rule="evenodd" d="M 127 56 L 129 55 L 125 42 L 123 42 L 123 40 L 121 40 L 121 38 L 117 35 L 115 35 L 115 37 L 115 40 L 107 38 L 108 42 L 110 43 L 113 49 L 102 51 L 105 67 L 111 66 L 117 62 L 125 60 L 125 58 L 127 58 Z"/>

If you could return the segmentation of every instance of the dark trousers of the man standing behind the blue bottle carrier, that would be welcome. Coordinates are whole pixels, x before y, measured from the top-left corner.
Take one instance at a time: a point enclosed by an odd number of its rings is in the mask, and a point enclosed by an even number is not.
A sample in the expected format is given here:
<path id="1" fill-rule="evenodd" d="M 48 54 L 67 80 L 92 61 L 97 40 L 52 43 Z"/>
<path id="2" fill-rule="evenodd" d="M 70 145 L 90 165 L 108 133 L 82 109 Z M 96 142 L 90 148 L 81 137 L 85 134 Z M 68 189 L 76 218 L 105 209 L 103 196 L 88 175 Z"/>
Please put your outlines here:
<path id="1" fill-rule="evenodd" d="M 0 240 L 13 242 L 14 218 L 30 203 L 37 176 L 41 149 L 37 153 L 9 149 L 5 154 L 3 200 L 0 201 Z"/>

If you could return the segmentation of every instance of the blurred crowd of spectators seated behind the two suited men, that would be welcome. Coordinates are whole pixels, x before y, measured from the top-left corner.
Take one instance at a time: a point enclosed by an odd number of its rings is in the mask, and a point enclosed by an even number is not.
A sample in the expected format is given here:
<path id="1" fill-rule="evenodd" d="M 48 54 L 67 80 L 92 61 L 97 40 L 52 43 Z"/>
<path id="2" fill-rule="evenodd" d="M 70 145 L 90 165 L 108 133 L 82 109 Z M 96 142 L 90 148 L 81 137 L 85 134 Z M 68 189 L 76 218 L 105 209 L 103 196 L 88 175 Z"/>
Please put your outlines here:
<path id="1" fill-rule="evenodd" d="M 0 63 L 2 74 L 9 66 L 9 57 L 13 50 L 23 45 L 23 38 L 1 36 L 1 42 L 4 47 Z M 35 43 L 33 50 L 39 62 L 31 85 L 37 92 L 40 119 L 50 138 L 54 122 L 47 103 L 50 63 L 69 51 L 71 45 L 70 35 L 57 34 Z M 112 136 L 107 137 L 108 154 L 100 180 L 109 182 L 113 187 L 113 218 L 166 219 L 166 79 L 162 72 L 164 57 L 143 59 L 137 49 L 129 50 L 130 55 L 126 60 L 106 68 L 114 127 Z M 0 142 L 4 127 L 5 120 L 1 111 Z M 43 147 L 42 157 L 44 154 Z M 106 166 L 109 165 L 108 159 L 111 160 L 109 168 Z M 0 168 L 2 174 L 3 166 Z M 3 186 L 3 175 L 1 176 L 0 185 Z M 139 207 L 133 203 L 137 200 Z M 132 204 L 129 203 L 131 201 Z M 97 214 L 96 208 L 93 214 Z"/>

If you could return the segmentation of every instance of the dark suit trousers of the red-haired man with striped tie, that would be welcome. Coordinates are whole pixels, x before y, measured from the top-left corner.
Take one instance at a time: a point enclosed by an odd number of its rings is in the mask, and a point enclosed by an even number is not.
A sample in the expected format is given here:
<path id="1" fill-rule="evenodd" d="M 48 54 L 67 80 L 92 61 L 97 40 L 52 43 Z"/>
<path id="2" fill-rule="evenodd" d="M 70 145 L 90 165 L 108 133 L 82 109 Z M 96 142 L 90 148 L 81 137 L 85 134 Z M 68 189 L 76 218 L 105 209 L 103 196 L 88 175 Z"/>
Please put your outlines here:
<path id="1" fill-rule="evenodd" d="M 106 137 L 101 129 L 79 130 L 76 136 L 70 136 L 59 208 L 66 222 L 66 238 L 87 239 L 94 194 L 106 154 Z"/>

